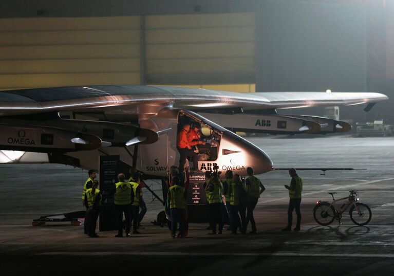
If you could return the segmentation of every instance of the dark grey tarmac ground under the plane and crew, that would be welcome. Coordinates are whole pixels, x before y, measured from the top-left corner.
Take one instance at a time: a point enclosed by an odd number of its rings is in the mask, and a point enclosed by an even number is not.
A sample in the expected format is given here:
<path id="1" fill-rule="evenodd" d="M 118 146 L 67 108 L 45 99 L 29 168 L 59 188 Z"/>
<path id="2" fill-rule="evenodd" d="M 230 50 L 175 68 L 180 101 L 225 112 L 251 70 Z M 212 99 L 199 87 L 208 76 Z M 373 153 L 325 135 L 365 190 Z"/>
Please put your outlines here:
<path id="1" fill-rule="evenodd" d="M 59 164 L 4 164 L 0 187 L 1 275 L 158 274 L 158 275 L 388 275 L 394 272 L 394 138 L 345 136 L 269 136 L 248 138 L 273 160 L 275 168 L 358 168 L 367 170 L 298 171 L 304 179 L 302 229 L 286 226 L 286 171 L 258 175 L 266 187 L 255 210 L 255 235 L 229 231 L 208 235 L 207 224 L 191 224 L 189 237 L 170 238 L 154 226 L 163 210 L 146 191 L 147 214 L 141 235 L 99 238 L 69 223 L 31 226 L 41 215 L 83 210 L 87 172 Z M 149 185 L 160 194 L 160 185 Z M 344 214 L 320 226 L 312 210 L 327 192 L 345 197 L 358 190 L 372 210 L 366 226 Z M 294 214 L 295 221 L 295 214 Z M 250 231 L 250 226 L 248 232 Z"/>

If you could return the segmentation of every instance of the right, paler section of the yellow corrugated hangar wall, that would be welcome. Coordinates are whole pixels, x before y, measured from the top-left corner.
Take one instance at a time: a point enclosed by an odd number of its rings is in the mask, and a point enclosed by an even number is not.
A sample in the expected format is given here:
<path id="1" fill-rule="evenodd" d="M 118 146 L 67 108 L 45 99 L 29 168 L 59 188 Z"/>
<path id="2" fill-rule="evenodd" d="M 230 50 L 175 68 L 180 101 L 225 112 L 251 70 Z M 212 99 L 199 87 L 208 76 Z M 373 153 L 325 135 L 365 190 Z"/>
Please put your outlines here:
<path id="1" fill-rule="evenodd" d="M 146 16 L 148 83 L 249 83 L 254 14 Z"/>

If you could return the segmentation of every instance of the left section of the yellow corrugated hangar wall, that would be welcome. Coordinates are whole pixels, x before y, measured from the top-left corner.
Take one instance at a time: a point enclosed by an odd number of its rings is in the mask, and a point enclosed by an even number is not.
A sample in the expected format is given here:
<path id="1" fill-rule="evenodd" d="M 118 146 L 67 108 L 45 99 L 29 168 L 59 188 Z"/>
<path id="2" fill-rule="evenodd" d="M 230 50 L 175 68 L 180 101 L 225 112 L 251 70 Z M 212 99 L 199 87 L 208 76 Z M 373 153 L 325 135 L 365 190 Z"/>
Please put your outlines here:
<path id="1" fill-rule="evenodd" d="M 0 20 L 0 88 L 139 84 L 139 17 Z"/>

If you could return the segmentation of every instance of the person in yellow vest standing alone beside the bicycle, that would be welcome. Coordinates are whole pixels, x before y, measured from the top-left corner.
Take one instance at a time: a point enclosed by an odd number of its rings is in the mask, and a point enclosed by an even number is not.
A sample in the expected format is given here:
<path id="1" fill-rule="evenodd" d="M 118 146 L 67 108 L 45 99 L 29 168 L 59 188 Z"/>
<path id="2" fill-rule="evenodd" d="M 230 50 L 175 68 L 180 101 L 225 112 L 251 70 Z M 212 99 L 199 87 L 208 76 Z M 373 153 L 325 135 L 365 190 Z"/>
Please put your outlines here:
<path id="1" fill-rule="evenodd" d="M 297 224 L 294 231 L 299 231 L 301 226 L 301 193 L 303 191 L 303 179 L 298 176 L 296 170 L 291 168 L 289 170 L 291 176 L 290 186 L 285 185 L 289 190 L 289 209 L 287 210 L 287 226 L 282 231 L 291 231 L 291 224 L 293 222 L 293 210 L 297 214 Z"/>

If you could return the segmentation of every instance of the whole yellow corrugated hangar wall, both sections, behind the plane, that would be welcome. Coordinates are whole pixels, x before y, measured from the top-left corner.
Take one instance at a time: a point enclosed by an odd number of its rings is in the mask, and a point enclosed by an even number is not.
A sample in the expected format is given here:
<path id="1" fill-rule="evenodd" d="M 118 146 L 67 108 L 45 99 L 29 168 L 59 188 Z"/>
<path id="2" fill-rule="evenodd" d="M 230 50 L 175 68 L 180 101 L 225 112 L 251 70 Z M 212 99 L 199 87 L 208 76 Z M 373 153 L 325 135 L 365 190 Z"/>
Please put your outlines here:
<path id="1" fill-rule="evenodd" d="M 1 19 L 0 89 L 254 83 L 252 13 L 141 18 Z"/>

